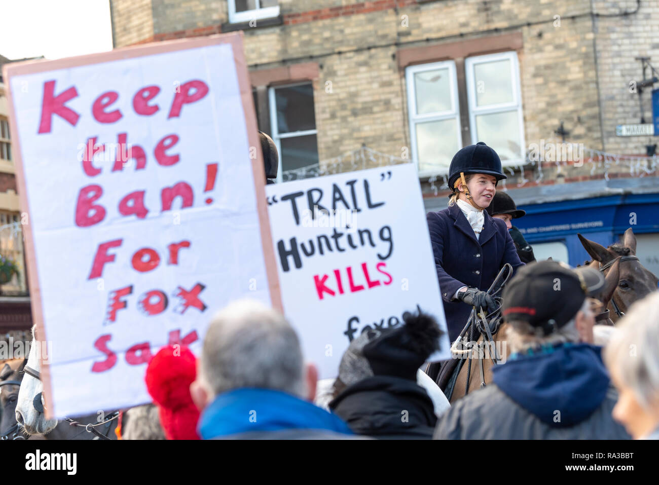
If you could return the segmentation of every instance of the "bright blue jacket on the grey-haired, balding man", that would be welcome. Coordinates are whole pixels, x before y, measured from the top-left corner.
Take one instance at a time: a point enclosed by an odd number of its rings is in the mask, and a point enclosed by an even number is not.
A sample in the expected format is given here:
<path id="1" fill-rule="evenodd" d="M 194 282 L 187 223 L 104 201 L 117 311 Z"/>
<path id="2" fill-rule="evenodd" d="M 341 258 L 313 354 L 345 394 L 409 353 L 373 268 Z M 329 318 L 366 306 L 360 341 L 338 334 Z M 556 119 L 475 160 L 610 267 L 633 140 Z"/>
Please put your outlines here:
<path id="1" fill-rule="evenodd" d="M 274 438 L 276 432 L 282 430 L 353 434 L 341 418 L 299 397 L 283 391 L 249 387 L 217 395 L 200 416 L 198 429 L 202 440 L 252 436 Z M 306 438 L 311 436 L 308 434 Z"/>

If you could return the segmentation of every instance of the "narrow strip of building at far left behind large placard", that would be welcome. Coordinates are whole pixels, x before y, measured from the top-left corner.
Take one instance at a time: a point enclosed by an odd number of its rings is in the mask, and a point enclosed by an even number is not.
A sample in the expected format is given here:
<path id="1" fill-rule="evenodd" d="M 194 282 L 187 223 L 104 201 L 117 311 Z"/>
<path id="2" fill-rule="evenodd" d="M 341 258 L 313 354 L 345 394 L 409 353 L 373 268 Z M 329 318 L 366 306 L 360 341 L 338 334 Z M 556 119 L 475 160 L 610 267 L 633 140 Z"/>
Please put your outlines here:
<path id="1" fill-rule="evenodd" d="M 11 332 L 14 338 L 18 339 L 24 337 L 24 330 L 32 327 L 32 317 L 9 132 L 7 94 L 1 74 L 3 64 L 9 62 L 14 61 L 0 55 L 0 255 L 13 260 L 18 273 L 14 274 L 10 281 L 0 282 L 0 338 Z M 20 332 L 16 334 L 14 331 Z"/>

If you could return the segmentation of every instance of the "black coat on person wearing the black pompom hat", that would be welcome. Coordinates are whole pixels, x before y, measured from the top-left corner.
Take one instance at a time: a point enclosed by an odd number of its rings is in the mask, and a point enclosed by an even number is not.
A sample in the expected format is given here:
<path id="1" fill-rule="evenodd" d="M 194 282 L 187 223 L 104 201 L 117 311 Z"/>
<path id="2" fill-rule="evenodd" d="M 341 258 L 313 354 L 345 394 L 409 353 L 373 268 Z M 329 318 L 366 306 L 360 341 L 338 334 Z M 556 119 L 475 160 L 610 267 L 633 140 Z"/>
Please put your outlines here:
<path id="1" fill-rule="evenodd" d="M 374 376 L 350 385 L 329 409 L 353 432 L 372 438 L 430 440 L 437 418 L 426 389 L 416 381 Z"/>

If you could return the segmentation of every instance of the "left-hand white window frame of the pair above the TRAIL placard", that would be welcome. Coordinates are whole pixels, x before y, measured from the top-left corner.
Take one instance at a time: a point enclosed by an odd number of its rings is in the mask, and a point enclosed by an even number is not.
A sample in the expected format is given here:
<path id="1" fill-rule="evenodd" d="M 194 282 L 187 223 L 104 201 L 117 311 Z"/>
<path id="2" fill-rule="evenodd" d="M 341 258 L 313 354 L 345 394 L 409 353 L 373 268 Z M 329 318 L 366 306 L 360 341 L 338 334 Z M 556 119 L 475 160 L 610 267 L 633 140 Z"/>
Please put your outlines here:
<path id="1" fill-rule="evenodd" d="M 451 92 L 451 109 L 440 111 L 438 113 L 428 113 L 418 115 L 416 113 L 416 89 L 414 76 L 418 72 L 435 71 L 436 69 L 449 70 L 449 90 Z M 416 165 L 416 171 L 419 177 L 429 177 L 436 174 L 436 171 L 420 171 L 418 161 L 418 148 L 416 146 L 416 124 L 428 121 L 443 121 L 445 119 L 455 119 L 457 123 L 457 146 L 458 150 L 462 148 L 462 124 L 460 123 L 460 102 L 457 91 L 457 74 L 455 71 L 455 61 L 441 61 L 438 63 L 419 64 L 405 68 L 405 83 L 407 84 L 407 113 L 409 118 L 410 140 L 412 145 L 412 159 Z M 446 167 L 448 171 L 448 167 Z"/>

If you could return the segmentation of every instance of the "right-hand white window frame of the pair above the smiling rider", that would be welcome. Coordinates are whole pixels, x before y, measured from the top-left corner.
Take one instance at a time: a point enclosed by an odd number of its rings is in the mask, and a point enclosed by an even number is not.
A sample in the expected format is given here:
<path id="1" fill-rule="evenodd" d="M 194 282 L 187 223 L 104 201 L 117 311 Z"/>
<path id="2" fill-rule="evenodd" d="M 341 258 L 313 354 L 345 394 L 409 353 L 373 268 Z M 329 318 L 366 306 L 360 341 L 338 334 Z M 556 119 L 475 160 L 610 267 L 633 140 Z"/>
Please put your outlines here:
<path id="1" fill-rule="evenodd" d="M 476 86 L 474 79 L 474 66 L 476 64 L 490 63 L 495 61 L 510 61 L 510 78 L 513 84 L 513 100 L 509 103 L 498 103 L 485 107 L 478 107 L 476 104 Z M 519 60 L 517 52 L 508 51 L 496 54 L 476 55 L 465 59 L 465 71 L 467 74 L 467 101 L 469 103 L 469 124 L 471 125 L 471 143 L 475 144 L 478 139 L 478 130 L 476 129 L 476 116 L 489 115 L 492 113 L 505 113 L 507 111 L 517 110 L 519 121 L 519 142 L 522 150 L 521 158 L 513 160 L 502 160 L 501 165 L 509 167 L 511 165 L 520 165 L 526 161 L 526 140 L 524 134 L 524 113 L 522 109 L 522 90 L 519 74 Z"/>

